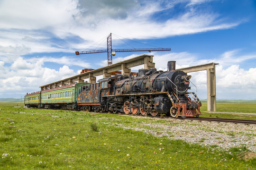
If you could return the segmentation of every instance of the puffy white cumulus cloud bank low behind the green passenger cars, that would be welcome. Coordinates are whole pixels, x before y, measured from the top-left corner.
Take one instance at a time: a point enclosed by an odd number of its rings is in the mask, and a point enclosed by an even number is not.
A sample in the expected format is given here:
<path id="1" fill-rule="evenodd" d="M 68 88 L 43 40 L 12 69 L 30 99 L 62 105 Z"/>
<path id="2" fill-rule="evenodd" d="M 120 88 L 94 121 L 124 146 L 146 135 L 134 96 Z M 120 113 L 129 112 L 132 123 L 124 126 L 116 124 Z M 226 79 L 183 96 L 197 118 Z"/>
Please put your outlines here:
<path id="1" fill-rule="evenodd" d="M 39 86 L 77 75 L 68 66 L 59 70 L 43 67 L 42 60 L 27 61 L 18 57 L 11 66 L 0 61 L 0 93 L 26 93 L 39 91 Z"/>

